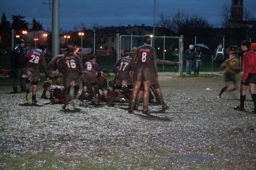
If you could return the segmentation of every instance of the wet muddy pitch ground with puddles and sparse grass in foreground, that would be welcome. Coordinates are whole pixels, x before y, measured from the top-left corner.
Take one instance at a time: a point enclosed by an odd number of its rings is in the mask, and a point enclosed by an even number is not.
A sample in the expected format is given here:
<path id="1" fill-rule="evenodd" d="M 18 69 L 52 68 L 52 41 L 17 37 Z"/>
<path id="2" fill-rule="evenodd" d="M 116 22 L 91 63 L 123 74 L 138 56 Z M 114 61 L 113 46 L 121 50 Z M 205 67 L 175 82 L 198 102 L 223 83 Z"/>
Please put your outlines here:
<path id="1" fill-rule="evenodd" d="M 0 169 L 256 169 L 256 115 L 234 111 L 239 90 L 222 78 L 160 76 L 170 109 L 150 104 L 128 114 L 128 104 L 85 105 L 70 111 L 25 94 L 0 90 Z M 210 90 L 206 90 L 209 88 Z"/>

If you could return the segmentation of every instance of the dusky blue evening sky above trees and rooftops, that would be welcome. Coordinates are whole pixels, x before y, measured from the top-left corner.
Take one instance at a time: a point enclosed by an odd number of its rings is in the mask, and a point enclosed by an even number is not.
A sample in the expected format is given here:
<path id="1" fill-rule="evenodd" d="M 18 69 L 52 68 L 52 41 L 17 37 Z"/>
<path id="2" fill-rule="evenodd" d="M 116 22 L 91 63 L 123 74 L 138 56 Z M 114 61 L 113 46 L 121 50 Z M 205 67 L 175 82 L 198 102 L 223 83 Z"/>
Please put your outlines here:
<path id="1" fill-rule="evenodd" d="M 220 26 L 220 11 L 224 4 L 231 6 L 231 0 L 156 0 L 156 21 L 160 12 L 171 16 L 181 9 L 186 14 L 198 14 L 214 26 Z M 244 7 L 256 17 L 256 0 L 244 0 Z M 60 28 L 70 31 L 80 23 L 87 28 L 93 23 L 101 26 L 153 26 L 153 9 L 154 0 L 60 0 Z M 45 30 L 51 30 L 52 11 L 49 5 L 42 4 L 42 0 L 0 0 L 1 16 L 3 13 L 10 22 L 12 15 L 20 14 L 27 22 L 32 23 L 35 18 L 43 23 Z"/>

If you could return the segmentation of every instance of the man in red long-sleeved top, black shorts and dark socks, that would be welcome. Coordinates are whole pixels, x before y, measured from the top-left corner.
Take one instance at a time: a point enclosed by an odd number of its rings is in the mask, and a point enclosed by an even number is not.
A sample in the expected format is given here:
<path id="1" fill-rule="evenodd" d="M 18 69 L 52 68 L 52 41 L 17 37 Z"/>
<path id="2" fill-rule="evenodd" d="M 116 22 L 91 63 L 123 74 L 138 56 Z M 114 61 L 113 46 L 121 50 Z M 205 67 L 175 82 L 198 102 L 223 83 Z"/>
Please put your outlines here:
<path id="1" fill-rule="evenodd" d="M 244 111 L 244 101 L 245 101 L 245 91 L 249 86 L 249 92 L 252 96 L 254 109 L 253 112 L 256 113 L 256 94 L 255 94 L 255 84 L 256 84 L 256 54 L 250 50 L 251 42 L 244 40 L 242 42 L 243 55 L 243 77 L 241 80 L 240 88 L 240 106 L 236 106 L 234 109 L 237 111 Z"/>

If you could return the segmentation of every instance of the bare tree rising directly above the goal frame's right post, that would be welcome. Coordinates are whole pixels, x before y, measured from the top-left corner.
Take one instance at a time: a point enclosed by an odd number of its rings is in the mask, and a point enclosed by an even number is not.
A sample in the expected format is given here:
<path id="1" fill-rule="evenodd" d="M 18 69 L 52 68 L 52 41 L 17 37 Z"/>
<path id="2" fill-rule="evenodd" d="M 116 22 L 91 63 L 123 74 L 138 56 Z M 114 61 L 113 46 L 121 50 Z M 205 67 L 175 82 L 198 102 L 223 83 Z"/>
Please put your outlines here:
<path id="1" fill-rule="evenodd" d="M 183 11 L 180 11 L 180 9 L 178 9 L 175 15 L 172 15 L 172 30 L 174 30 L 177 34 L 180 35 L 181 29 L 184 28 L 184 26 L 186 26 L 188 20 L 189 15 L 185 14 Z"/>

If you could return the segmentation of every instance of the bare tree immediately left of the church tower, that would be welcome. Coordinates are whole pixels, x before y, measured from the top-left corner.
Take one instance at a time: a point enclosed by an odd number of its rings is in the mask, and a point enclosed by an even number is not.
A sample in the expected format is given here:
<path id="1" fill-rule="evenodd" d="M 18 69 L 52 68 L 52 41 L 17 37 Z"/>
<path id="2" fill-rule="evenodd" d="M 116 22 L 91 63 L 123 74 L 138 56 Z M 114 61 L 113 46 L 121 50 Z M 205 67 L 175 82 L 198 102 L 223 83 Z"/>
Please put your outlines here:
<path id="1" fill-rule="evenodd" d="M 231 7 L 228 5 L 224 5 L 221 7 L 221 27 L 222 28 L 230 28 L 230 20 L 231 20 Z"/>

